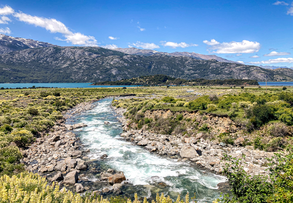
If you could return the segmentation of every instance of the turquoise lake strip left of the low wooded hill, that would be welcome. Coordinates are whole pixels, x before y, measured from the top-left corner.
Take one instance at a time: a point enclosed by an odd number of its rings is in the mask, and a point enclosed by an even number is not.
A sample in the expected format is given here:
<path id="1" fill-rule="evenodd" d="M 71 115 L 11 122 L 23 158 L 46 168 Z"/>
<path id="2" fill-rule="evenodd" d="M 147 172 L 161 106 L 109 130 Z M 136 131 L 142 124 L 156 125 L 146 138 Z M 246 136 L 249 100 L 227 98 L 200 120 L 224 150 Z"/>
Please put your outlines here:
<path id="1" fill-rule="evenodd" d="M 133 87 L 136 85 L 90 85 L 92 83 L 0 83 L 4 88 L 23 88 L 23 87 L 60 87 L 60 88 L 93 88 L 93 87 Z"/>

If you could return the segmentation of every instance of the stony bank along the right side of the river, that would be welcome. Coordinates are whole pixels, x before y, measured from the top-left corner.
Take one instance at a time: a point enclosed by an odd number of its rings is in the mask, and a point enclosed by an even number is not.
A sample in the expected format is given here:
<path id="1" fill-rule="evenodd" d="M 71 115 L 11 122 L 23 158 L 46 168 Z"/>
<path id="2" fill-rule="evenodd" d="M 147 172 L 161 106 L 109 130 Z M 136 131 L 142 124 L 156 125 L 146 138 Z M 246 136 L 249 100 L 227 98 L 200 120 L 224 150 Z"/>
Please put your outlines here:
<path id="1" fill-rule="evenodd" d="M 119 115 L 123 115 L 126 111 L 122 108 L 113 108 Z M 194 114 L 194 117 L 196 116 L 197 115 Z M 145 127 L 136 130 L 136 125 L 126 119 L 125 116 L 117 117 L 117 119 L 122 122 L 122 129 L 125 131 L 125 133 L 121 134 L 122 137 L 127 141 L 144 146 L 145 149 L 159 155 L 168 155 L 173 158 L 178 157 L 178 161 L 190 160 L 196 162 L 199 167 L 209 171 L 214 171 L 217 174 L 222 173 L 224 164 L 226 163 L 225 161 L 222 161 L 224 153 L 234 158 L 241 158 L 242 155 L 246 155 L 245 163 L 243 163 L 246 173 L 250 175 L 269 173 L 268 170 L 265 170 L 268 169 L 267 158 L 272 158 L 274 153 L 255 150 L 253 146 L 241 146 L 244 142 L 243 137 L 237 138 L 234 145 L 226 145 L 225 143 L 203 139 L 203 133 L 197 133 L 193 137 L 163 135 L 154 133 L 154 131 L 149 131 L 145 129 Z M 231 120 L 226 119 L 225 121 L 225 118 L 213 119 L 216 120 L 215 123 L 219 126 L 219 129 L 225 130 L 225 125 L 221 126 L 221 123 L 226 122 L 227 124 L 230 124 L 230 127 L 232 126 L 232 128 L 236 130 L 236 126 L 233 125 Z M 198 121 L 200 122 L 200 118 Z M 228 127 L 229 125 L 226 125 L 226 128 Z"/>

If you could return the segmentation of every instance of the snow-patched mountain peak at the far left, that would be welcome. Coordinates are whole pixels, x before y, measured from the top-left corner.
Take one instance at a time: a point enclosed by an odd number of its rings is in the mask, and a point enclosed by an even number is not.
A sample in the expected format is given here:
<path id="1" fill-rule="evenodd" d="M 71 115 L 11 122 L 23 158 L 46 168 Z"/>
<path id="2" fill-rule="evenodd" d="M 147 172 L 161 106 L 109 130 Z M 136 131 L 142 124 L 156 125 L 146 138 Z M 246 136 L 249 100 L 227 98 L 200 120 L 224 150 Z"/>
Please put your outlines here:
<path id="1" fill-rule="evenodd" d="M 33 39 L 11 37 L 5 34 L 0 34 L 0 54 L 28 48 L 43 48 L 50 46 L 57 47 L 58 45 L 50 44 L 48 42 L 36 41 Z"/>

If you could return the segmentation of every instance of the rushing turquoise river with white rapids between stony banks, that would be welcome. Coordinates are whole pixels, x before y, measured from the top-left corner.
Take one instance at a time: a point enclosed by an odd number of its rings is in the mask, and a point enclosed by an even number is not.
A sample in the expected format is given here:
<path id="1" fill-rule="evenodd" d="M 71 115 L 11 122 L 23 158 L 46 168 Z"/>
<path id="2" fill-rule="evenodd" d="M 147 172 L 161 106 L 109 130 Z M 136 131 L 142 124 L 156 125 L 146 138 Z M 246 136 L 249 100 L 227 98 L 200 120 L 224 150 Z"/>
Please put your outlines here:
<path id="1" fill-rule="evenodd" d="M 123 188 L 125 195 L 133 197 L 135 192 L 141 197 L 155 197 L 164 192 L 176 199 L 178 194 L 184 197 L 186 192 L 197 194 L 198 202 L 212 202 L 219 197 L 217 184 L 224 182 L 224 176 L 215 175 L 196 168 L 192 163 L 177 162 L 176 158 L 160 157 L 143 147 L 126 142 L 120 137 L 121 123 L 110 107 L 112 98 L 99 100 L 92 110 L 74 116 L 74 121 L 83 122 L 87 127 L 75 133 L 84 144 L 84 150 L 91 151 L 89 157 L 101 171 L 108 168 L 123 171 L 133 186 Z M 110 122 L 105 125 L 104 121 Z M 98 159 L 107 154 L 107 159 Z M 87 174 L 91 181 L 98 180 L 98 174 Z M 97 190 L 100 188 L 97 188 Z"/>

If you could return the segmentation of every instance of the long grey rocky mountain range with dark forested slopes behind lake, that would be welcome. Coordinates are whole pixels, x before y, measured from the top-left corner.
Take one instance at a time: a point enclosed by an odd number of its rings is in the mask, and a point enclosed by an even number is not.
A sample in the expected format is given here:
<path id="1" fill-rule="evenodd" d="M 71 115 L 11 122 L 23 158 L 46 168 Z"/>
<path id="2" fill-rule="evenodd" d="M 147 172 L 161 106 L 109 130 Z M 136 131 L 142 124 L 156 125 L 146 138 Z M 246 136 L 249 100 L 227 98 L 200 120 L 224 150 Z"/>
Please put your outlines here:
<path id="1" fill-rule="evenodd" d="M 150 50 L 139 51 L 147 55 L 133 55 L 130 51 L 137 51 L 134 48 L 124 53 L 101 47 L 61 47 L 6 35 L 1 35 L 0 44 L 2 83 L 100 82 L 155 74 L 182 79 L 293 81 L 292 69 L 272 70 L 200 58 L 208 55 L 148 55 Z"/>

